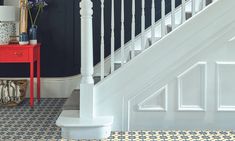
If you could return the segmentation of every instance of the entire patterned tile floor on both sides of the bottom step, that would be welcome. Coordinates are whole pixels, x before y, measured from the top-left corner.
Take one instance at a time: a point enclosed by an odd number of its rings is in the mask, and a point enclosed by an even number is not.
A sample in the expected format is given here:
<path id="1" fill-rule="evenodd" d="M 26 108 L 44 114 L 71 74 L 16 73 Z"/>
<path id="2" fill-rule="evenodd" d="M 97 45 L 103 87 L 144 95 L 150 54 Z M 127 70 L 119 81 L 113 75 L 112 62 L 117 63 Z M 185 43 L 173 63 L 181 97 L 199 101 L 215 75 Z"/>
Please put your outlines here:
<path id="1" fill-rule="evenodd" d="M 26 99 L 17 107 L 0 107 L 0 141 L 67 141 L 55 121 L 66 99 L 42 99 L 33 109 Z M 235 141 L 235 131 L 112 132 L 105 141 Z"/>

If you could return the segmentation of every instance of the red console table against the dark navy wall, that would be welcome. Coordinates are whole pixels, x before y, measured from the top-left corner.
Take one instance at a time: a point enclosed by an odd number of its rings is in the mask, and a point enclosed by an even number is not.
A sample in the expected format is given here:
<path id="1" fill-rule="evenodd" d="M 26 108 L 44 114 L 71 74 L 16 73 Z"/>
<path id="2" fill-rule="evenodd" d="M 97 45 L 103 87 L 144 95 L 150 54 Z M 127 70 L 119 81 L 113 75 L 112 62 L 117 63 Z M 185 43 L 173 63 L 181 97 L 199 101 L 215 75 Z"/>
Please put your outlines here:
<path id="1" fill-rule="evenodd" d="M 34 105 L 34 62 L 37 62 L 37 99 L 40 101 L 40 44 L 0 45 L 0 63 L 30 64 L 30 106 Z"/>

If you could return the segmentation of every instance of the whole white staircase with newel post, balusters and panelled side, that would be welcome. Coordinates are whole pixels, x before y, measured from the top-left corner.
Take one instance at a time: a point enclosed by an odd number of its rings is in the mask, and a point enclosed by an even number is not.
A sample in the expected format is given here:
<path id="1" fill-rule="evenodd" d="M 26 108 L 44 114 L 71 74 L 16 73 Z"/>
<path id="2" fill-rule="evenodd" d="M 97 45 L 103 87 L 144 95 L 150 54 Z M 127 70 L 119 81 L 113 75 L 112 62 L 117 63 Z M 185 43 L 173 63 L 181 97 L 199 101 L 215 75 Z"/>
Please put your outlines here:
<path id="1" fill-rule="evenodd" d="M 90 0 L 82 2 L 84 8 L 91 10 Z M 104 58 L 104 34 L 101 32 L 102 58 L 101 63 L 95 66 L 95 85 L 91 79 L 92 43 L 88 43 L 92 34 L 82 35 L 84 56 L 81 74 L 84 79 L 81 92 L 73 92 L 57 120 L 64 138 L 102 139 L 108 137 L 111 130 L 235 127 L 229 124 L 235 117 L 231 112 L 234 111 L 235 103 L 230 98 L 220 99 L 221 94 L 232 95 L 224 89 L 225 84 L 233 82 L 226 76 L 226 72 L 231 73 L 231 70 L 225 68 L 232 67 L 235 70 L 235 63 L 231 62 L 235 61 L 232 56 L 234 49 L 230 48 L 227 52 L 228 49 L 220 47 L 228 40 L 229 45 L 233 43 L 234 0 L 217 0 L 210 5 L 212 1 L 183 0 L 183 5 L 176 8 L 173 0 L 172 12 L 168 15 L 164 12 L 164 2 L 162 0 L 162 19 L 152 22 L 151 27 L 145 30 L 142 28 L 138 36 L 134 36 L 133 31 L 133 10 L 132 40 L 123 44 L 124 34 L 121 31 L 121 48 L 114 52 L 112 43 L 111 55 L 107 58 Z M 104 1 L 101 0 L 101 9 L 103 6 Z M 145 24 L 143 7 L 142 25 Z M 84 33 L 92 33 L 91 11 L 81 14 L 84 16 L 82 23 L 87 22 L 82 24 Z M 121 22 L 124 22 L 123 18 Z M 112 42 L 114 39 L 112 36 Z M 217 69 L 213 62 L 216 62 Z M 229 81 L 224 82 L 224 79 Z M 218 93 L 218 103 L 215 93 Z M 223 121 L 224 118 L 226 121 Z"/>

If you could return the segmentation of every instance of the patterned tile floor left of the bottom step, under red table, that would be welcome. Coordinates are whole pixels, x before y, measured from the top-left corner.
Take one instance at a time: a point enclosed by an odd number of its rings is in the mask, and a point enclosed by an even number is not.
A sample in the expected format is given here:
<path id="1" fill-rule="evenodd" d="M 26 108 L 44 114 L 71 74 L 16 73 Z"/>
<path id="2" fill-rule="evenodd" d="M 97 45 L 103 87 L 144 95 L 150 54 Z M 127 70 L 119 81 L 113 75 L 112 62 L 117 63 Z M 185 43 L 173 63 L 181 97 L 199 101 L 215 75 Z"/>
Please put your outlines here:
<path id="1" fill-rule="evenodd" d="M 55 121 L 66 99 L 41 99 L 30 108 L 29 99 L 16 107 L 0 107 L 0 141 L 60 140 Z"/>

